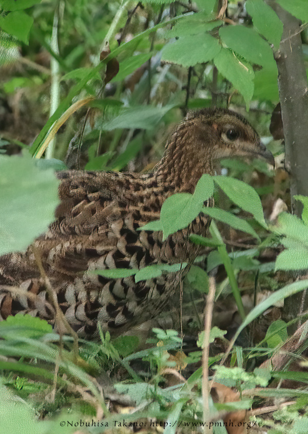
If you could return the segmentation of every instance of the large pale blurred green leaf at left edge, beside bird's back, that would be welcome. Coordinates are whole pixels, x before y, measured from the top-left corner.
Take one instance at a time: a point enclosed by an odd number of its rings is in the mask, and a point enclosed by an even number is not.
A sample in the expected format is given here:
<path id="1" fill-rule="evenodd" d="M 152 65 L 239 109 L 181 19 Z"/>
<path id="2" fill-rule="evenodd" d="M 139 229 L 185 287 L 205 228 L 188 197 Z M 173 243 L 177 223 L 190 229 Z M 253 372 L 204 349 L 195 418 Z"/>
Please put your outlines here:
<path id="1" fill-rule="evenodd" d="M 30 156 L 0 156 L 0 255 L 25 250 L 54 221 L 59 181 Z"/>

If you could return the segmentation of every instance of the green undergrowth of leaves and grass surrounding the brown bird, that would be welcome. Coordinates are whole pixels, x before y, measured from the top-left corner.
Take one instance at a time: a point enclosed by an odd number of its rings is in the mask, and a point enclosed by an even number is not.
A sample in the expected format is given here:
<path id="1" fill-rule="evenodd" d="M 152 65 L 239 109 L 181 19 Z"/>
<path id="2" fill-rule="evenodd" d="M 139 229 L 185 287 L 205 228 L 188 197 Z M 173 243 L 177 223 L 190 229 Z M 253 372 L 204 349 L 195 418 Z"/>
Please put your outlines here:
<path id="1" fill-rule="evenodd" d="M 305 0 L 277 3 L 302 20 L 307 61 Z M 190 235 L 207 249 L 194 264 L 95 271 L 137 282 L 187 267 L 181 297 L 170 301 L 180 314 L 168 307 L 147 339 L 100 331 L 77 342 L 30 315 L 0 322 L 1 431 L 174 434 L 211 421 L 223 434 L 226 414 L 249 410 L 249 428 L 308 432 L 307 313 L 281 318 L 283 300 L 308 286 L 308 198 L 295 197 L 301 218 L 287 212 L 283 148 L 268 132 L 283 27 L 274 10 L 263 0 L 4 0 L 0 8 L 0 255 L 25 250 L 54 220 L 55 171 L 150 171 L 188 109 L 242 112 L 277 163 L 274 172 L 260 160 L 223 160 L 221 174 L 169 197 L 142 228 L 166 238 L 209 216 L 208 237 Z M 217 310 L 207 333 L 210 293 Z M 208 375 L 240 398 L 206 398 Z M 261 419 L 254 409 L 266 406 L 274 413 Z"/>

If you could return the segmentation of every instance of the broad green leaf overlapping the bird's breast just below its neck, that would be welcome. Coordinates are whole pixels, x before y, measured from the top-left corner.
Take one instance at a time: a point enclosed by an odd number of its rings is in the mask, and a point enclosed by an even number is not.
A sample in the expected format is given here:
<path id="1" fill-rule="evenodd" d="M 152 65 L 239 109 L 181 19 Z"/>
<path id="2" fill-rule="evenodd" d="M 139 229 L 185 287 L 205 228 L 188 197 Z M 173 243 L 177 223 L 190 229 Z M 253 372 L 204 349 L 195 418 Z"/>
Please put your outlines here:
<path id="1" fill-rule="evenodd" d="M 163 203 L 160 221 L 163 239 L 188 226 L 202 211 L 203 203 L 196 202 L 189 193 L 176 193 Z"/>

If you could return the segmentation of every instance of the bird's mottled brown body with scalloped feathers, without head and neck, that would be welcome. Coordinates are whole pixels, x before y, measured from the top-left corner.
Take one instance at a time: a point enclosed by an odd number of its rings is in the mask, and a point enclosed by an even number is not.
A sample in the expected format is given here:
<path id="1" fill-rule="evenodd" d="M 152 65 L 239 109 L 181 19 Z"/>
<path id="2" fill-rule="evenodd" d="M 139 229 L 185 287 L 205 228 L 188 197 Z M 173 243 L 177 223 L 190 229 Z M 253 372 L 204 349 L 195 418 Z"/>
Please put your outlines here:
<path id="1" fill-rule="evenodd" d="M 142 269 L 158 262 L 187 260 L 187 236 L 180 231 L 162 241 L 161 232 L 137 231 L 159 219 L 172 191 L 156 173 L 66 171 L 58 175 L 60 205 L 48 232 L 34 243 L 62 311 L 80 335 L 120 330 L 155 316 L 179 280 L 171 273 L 134 281 L 109 279 L 93 270 Z M 197 224 L 205 227 L 205 219 Z M 186 248 L 185 248 L 186 245 Z M 33 247 L 0 258 L 1 315 L 30 313 L 53 321 Z M 2 271 L 1 271 L 2 270 Z M 34 295 L 12 295 L 5 286 Z"/>

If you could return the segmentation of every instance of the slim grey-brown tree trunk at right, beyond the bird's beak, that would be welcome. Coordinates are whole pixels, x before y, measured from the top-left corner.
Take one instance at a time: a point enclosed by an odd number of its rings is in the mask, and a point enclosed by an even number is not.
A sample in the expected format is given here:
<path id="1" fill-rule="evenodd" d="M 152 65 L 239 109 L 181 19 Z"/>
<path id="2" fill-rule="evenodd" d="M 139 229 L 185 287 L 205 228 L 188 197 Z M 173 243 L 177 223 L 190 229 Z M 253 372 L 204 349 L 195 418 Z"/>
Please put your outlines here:
<path id="1" fill-rule="evenodd" d="M 285 140 L 285 168 L 291 175 L 292 212 L 301 215 L 302 206 L 295 195 L 308 196 L 308 84 L 304 67 L 300 21 L 268 0 L 283 23 L 279 50 L 275 53 Z M 284 318 L 289 321 L 308 308 L 306 291 L 288 297 Z M 294 329 L 293 329 L 294 330 Z"/>

